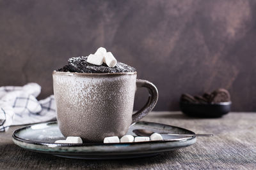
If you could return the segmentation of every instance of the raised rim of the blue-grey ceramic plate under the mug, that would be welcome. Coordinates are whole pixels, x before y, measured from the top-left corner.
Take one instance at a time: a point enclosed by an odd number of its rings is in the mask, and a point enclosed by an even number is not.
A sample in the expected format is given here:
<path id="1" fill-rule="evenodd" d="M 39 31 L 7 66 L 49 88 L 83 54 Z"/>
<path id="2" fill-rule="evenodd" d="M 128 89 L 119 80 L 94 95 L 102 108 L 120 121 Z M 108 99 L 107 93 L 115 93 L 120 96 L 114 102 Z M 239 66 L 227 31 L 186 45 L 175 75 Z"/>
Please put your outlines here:
<path id="1" fill-rule="evenodd" d="M 155 122 L 145 122 L 140 121 L 142 124 L 158 124 L 164 125 L 168 127 L 174 127 L 178 129 L 182 129 L 187 132 L 191 132 L 195 134 L 195 132 L 189 131 L 188 129 L 184 129 L 182 127 L 177 127 L 173 125 L 159 124 Z M 57 124 L 57 122 L 44 122 L 38 124 Z M 161 153 L 168 152 L 170 150 L 174 150 L 176 148 L 182 148 L 186 146 L 193 145 L 196 142 L 196 136 L 186 137 L 182 140 L 166 140 L 166 141 L 146 141 L 146 142 L 138 142 L 138 143 L 83 143 L 83 144 L 61 144 L 61 143 L 46 143 L 46 142 L 38 142 L 31 141 L 19 138 L 16 136 L 16 133 L 20 131 L 24 131 L 28 129 L 32 125 L 27 125 L 26 127 L 21 127 L 13 131 L 13 142 L 15 145 L 20 146 L 26 150 L 32 152 L 40 152 L 40 153 L 48 153 L 51 155 L 136 155 L 136 154 L 150 154 L 150 153 Z M 175 145 L 176 146 L 173 146 Z M 150 145 L 155 145 L 155 148 L 147 148 Z M 127 149 L 125 146 L 130 146 L 131 148 Z M 97 148 L 99 150 L 94 150 L 93 148 Z M 142 148 L 142 149 L 141 149 Z"/>

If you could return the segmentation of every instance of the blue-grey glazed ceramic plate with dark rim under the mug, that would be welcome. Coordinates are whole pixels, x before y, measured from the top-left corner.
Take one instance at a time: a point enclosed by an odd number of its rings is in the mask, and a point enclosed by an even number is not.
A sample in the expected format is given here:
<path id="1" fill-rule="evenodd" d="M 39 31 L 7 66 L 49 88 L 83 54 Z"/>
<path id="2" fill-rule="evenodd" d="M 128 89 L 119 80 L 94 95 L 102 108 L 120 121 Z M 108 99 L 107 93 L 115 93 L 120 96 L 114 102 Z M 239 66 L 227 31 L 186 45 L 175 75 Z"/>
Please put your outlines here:
<path id="1" fill-rule="evenodd" d="M 147 129 L 154 132 L 175 132 L 180 134 L 195 134 L 194 132 L 172 125 L 152 122 L 137 122 L 129 127 L 127 134 L 136 136 L 134 129 Z M 65 139 L 58 129 L 56 122 L 29 125 L 13 132 L 16 145 L 33 152 L 49 153 L 59 157 L 76 159 L 127 159 L 148 157 L 177 148 L 186 147 L 196 142 L 193 137 L 168 136 L 163 134 L 166 141 L 147 141 L 140 143 L 83 143 L 61 144 L 54 143 Z"/>

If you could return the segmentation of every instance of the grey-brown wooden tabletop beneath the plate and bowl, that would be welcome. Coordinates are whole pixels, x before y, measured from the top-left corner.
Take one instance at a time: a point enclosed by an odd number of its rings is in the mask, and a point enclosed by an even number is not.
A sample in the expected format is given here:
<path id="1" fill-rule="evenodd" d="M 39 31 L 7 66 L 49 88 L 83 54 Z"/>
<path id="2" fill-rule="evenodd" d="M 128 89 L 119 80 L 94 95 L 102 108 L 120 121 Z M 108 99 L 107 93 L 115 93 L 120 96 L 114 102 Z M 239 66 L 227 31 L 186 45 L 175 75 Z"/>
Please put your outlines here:
<path id="1" fill-rule="evenodd" d="M 223 118 L 189 118 L 180 112 L 152 112 L 145 121 L 184 127 L 214 137 L 159 156 L 127 160 L 78 160 L 26 151 L 12 142 L 12 127 L 0 133 L 0 169 L 256 169 L 256 113 Z"/>

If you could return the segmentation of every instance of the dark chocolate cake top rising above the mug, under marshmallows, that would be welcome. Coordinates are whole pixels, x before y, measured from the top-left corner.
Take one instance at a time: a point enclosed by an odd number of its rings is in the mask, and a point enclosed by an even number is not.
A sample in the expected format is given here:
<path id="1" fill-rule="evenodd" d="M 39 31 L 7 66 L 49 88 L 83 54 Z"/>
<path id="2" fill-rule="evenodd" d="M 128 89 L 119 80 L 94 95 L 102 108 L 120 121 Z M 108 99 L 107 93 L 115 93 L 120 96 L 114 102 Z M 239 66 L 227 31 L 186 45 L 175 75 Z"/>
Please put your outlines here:
<path id="1" fill-rule="evenodd" d="M 128 66 L 122 62 L 117 62 L 115 67 L 108 67 L 106 64 L 96 66 L 87 62 L 88 57 L 72 57 L 68 59 L 68 64 L 58 69 L 63 72 L 77 72 L 77 73 L 125 73 L 135 72 L 134 67 Z"/>

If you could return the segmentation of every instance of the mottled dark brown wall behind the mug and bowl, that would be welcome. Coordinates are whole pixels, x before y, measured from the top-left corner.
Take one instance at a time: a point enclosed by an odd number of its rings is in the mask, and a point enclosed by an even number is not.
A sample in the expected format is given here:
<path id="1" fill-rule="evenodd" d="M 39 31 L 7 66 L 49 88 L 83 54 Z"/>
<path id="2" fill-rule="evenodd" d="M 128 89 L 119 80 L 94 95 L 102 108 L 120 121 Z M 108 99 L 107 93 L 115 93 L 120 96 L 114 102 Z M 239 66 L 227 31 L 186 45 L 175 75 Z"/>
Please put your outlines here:
<path id="1" fill-rule="evenodd" d="M 52 70 L 105 46 L 156 84 L 155 110 L 224 87 L 233 110 L 255 111 L 255 18 L 253 0 L 0 0 L 0 85 L 35 81 L 49 96 Z"/>

